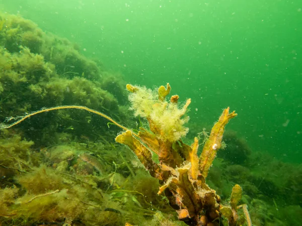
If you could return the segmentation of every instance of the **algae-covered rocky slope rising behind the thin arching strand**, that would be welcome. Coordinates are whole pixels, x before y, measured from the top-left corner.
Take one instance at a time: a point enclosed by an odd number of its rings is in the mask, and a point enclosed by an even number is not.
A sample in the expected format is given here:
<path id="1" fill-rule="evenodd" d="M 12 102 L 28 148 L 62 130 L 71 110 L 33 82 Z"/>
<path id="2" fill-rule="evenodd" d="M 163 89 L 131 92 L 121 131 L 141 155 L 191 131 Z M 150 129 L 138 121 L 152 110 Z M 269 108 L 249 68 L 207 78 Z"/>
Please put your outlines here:
<path id="1" fill-rule="evenodd" d="M 121 76 L 104 71 L 68 40 L 20 16 L 0 14 L 0 47 L 0 121 L 56 105 L 85 105 L 127 121 Z M 109 132 L 106 123 L 87 112 L 65 110 L 46 113 L 22 127 L 29 129 L 27 138 L 47 145 L 58 142 L 59 133 L 91 140 L 116 133 L 112 128 Z"/>

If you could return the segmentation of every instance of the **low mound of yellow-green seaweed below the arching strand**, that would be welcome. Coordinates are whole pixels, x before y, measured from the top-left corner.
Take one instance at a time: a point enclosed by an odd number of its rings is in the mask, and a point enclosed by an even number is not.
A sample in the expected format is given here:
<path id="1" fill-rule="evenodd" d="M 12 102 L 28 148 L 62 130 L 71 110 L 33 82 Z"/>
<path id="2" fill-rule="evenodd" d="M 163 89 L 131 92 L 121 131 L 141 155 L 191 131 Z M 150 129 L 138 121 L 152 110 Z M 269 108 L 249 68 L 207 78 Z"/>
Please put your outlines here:
<path id="1" fill-rule="evenodd" d="M 2 225 L 67 222 L 121 225 L 127 221 L 149 225 L 143 217 L 151 221 L 160 206 L 164 206 L 164 201 L 156 195 L 156 187 L 151 186 L 155 181 L 146 180 L 144 170 L 125 162 L 127 159 L 137 165 L 137 160 L 123 149 L 93 142 L 85 146 L 79 143 L 54 145 L 36 153 L 40 155 L 40 162 L 33 166 L 25 155 L 35 153 L 30 147 L 32 142 L 21 140 L 17 135 L 2 136 L 8 141 L 2 140 L 1 150 L 15 147 L 16 153 L 24 153 L 20 159 L 29 166 L 15 165 L 12 156 L 6 151 L 1 153 L 4 160 L 12 161 L 11 165 L 10 161 L 4 161 L 0 166 L 1 184 L 5 186 L 0 189 Z M 8 179 L 6 184 L 4 177 Z M 132 186 L 134 182 L 136 187 Z M 144 186 L 148 187 L 147 192 Z M 171 212 L 169 208 L 161 210 Z M 135 214 L 137 212 L 140 214 Z"/>

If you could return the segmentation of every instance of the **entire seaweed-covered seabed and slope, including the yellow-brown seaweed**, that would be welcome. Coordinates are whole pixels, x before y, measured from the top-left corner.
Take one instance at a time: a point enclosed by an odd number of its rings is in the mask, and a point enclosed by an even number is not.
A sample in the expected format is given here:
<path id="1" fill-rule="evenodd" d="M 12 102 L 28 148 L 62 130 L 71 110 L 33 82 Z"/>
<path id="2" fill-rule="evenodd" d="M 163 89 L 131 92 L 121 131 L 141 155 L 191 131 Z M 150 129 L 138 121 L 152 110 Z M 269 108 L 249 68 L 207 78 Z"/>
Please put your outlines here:
<path id="1" fill-rule="evenodd" d="M 302 221 L 302 165 L 224 132 L 229 108 L 207 133 L 169 84 L 127 95 L 121 76 L 20 16 L 0 15 L 0 46 L 0 225 Z"/>

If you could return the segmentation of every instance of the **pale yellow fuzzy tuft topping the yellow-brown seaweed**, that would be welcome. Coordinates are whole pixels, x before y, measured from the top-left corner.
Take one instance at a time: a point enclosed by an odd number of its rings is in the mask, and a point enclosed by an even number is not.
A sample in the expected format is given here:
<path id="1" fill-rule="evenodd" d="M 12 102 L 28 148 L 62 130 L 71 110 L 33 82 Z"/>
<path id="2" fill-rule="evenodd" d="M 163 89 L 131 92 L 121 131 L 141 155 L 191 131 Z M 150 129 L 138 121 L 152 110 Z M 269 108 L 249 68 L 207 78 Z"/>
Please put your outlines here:
<path id="1" fill-rule="evenodd" d="M 178 96 L 174 96 L 170 102 L 163 101 L 170 92 L 171 86 L 168 84 L 167 89 L 163 87 L 159 89 L 158 94 L 145 87 L 127 85 L 127 89 L 131 91 L 129 100 L 134 116 L 140 116 L 152 122 L 150 126 L 158 132 L 154 133 L 159 140 L 175 142 L 189 131 L 184 127 L 189 118 L 184 115 L 191 100 L 188 99 L 182 108 L 177 105 Z"/>

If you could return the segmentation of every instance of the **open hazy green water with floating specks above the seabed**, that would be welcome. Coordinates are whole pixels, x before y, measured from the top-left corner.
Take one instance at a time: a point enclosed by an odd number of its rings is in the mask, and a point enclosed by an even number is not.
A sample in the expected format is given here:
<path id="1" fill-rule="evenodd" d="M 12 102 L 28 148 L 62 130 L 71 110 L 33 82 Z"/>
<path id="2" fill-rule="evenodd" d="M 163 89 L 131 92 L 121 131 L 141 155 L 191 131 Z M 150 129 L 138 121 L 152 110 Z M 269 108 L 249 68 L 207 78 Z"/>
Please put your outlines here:
<path id="1" fill-rule="evenodd" d="M 192 98 L 191 122 L 212 125 L 221 109 L 253 150 L 302 159 L 301 1 L 0 1 L 78 43 L 130 83 L 169 82 Z"/>

